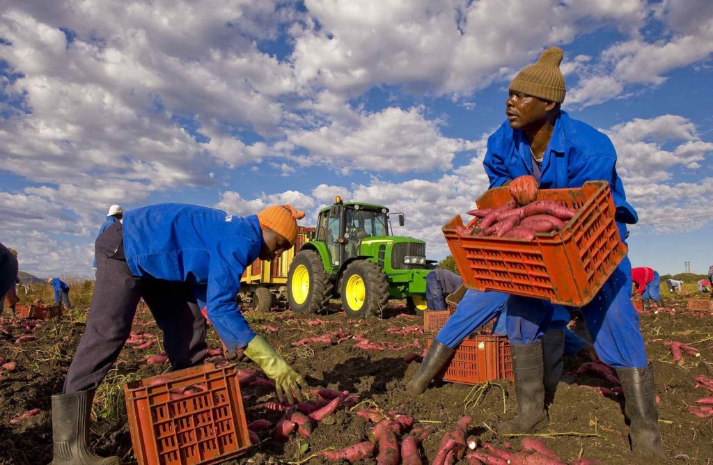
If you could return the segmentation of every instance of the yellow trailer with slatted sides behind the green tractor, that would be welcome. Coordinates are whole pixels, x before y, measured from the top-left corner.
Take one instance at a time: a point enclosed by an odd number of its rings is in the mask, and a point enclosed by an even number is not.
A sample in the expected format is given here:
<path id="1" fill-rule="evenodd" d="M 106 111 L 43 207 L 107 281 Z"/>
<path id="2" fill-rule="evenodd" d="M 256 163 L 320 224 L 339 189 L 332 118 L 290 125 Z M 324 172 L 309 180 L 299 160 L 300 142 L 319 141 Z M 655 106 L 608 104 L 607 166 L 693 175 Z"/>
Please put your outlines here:
<path id="1" fill-rule="evenodd" d="M 299 252 L 304 242 L 314 233 L 314 228 L 299 226 L 297 242 L 275 260 L 259 258 L 252 262 L 240 279 L 240 291 L 237 297 L 241 302 L 250 303 L 260 312 L 269 312 L 277 300 L 287 300 L 287 273 L 295 251 Z"/>

